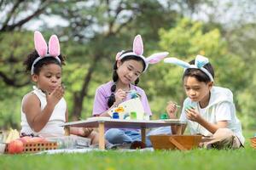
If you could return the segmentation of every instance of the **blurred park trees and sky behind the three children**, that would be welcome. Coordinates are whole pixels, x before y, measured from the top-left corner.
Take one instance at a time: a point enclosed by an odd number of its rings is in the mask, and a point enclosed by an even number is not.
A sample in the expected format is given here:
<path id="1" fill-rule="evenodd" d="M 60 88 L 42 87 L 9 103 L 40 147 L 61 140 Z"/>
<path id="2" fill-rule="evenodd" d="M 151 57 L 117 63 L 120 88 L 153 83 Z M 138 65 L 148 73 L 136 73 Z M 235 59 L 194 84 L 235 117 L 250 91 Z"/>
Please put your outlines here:
<path id="1" fill-rule="evenodd" d="M 96 88 L 112 79 L 115 54 L 140 34 L 144 55 L 207 56 L 215 85 L 230 88 L 243 129 L 256 127 L 256 2 L 249 0 L 1 0 L 0 129 L 20 129 L 20 103 L 32 90 L 22 64 L 33 31 L 56 34 L 66 56 L 62 81 L 71 120 L 91 116 Z M 183 104 L 183 69 L 161 62 L 140 77 L 153 118 L 169 100 Z"/>

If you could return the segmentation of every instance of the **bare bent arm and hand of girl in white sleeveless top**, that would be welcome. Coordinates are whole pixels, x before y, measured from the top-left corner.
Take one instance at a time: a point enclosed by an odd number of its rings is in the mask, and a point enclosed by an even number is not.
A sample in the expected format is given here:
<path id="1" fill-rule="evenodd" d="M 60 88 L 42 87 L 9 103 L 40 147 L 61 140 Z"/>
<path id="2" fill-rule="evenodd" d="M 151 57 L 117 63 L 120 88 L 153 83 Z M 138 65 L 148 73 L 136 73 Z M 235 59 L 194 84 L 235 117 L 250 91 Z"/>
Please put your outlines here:
<path id="1" fill-rule="evenodd" d="M 60 86 L 55 88 L 51 94 L 46 94 L 47 104 L 45 105 L 43 111 L 41 111 L 40 100 L 35 94 L 26 95 L 22 111 L 26 114 L 26 120 L 29 126 L 35 131 L 39 132 L 44 128 L 47 122 L 49 122 L 49 117 L 55 109 L 55 105 L 63 97 L 64 89 Z"/>

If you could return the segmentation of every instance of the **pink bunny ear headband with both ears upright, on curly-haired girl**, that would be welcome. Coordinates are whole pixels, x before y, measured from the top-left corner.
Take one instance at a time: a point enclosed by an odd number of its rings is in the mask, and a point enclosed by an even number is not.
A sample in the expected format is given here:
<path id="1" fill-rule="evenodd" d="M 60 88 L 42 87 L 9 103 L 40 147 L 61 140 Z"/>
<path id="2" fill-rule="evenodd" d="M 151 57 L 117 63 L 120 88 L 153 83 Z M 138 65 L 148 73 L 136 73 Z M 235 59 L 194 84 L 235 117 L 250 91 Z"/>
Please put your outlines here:
<path id="1" fill-rule="evenodd" d="M 35 59 L 32 64 L 31 74 L 34 74 L 34 65 L 38 63 L 40 59 L 44 59 L 44 57 L 54 57 L 61 64 L 61 59 L 58 56 L 61 54 L 60 43 L 58 37 L 52 35 L 49 38 L 49 48 L 47 47 L 47 43 L 44 40 L 43 35 L 39 31 L 34 32 L 34 43 L 35 48 L 38 52 L 38 59 Z M 49 50 L 48 50 L 49 49 Z M 48 53 L 49 51 L 49 53 Z"/>

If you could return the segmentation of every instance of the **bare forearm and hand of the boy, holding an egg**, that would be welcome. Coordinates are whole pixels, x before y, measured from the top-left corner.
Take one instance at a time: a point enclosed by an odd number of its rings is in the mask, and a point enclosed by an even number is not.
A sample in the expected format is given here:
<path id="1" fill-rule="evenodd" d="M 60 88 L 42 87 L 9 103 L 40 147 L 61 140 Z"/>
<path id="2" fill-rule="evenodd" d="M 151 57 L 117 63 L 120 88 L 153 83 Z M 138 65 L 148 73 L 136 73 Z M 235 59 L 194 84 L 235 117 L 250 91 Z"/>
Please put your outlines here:
<path id="1" fill-rule="evenodd" d="M 198 122 L 201 124 L 202 127 L 205 127 L 210 133 L 215 133 L 218 128 L 224 128 L 228 126 L 227 121 L 219 121 L 216 124 L 207 122 L 195 109 L 188 109 L 187 112 L 187 118 L 190 121 Z"/>

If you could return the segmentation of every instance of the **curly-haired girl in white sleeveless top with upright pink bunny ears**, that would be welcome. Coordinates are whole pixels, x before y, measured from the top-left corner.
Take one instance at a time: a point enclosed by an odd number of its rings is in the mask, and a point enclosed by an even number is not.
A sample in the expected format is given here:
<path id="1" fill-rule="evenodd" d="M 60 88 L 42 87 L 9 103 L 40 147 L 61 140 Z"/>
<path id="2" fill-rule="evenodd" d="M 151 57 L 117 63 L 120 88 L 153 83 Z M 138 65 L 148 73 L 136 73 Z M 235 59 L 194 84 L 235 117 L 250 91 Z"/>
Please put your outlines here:
<path id="1" fill-rule="evenodd" d="M 61 56 L 58 37 L 49 38 L 49 46 L 39 31 L 34 32 L 35 51 L 24 62 L 26 71 L 30 71 L 32 81 L 36 83 L 32 92 L 26 94 L 21 103 L 21 134 L 42 137 L 59 137 L 64 135 L 67 122 L 67 102 L 63 98 L 61 86 Z M 92 129 L 72 127 L 70 133 L 92 139 L 98 143 L 97 133 Z"/>

